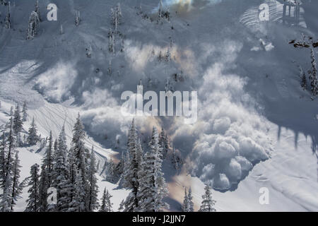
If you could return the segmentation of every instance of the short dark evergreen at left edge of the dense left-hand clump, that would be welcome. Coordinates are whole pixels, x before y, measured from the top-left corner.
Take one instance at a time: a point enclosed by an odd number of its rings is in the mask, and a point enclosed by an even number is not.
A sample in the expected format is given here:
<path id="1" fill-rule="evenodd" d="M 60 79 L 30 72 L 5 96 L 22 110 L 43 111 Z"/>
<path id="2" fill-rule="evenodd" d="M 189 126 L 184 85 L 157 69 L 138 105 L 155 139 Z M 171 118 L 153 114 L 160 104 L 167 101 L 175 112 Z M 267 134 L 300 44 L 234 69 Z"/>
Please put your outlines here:
<path id="1" fill-rule="evenodd" d="M 25 209 L 26 212 L 39 212 L 40 211 L 40 193 L 39 193 L 39 186 L 40 186 L 40 166 L 35 164 L 31 166 L 30 169 L 30 177 L 28 186 L 29 197 L 27 200 L 27 208 Z"/>

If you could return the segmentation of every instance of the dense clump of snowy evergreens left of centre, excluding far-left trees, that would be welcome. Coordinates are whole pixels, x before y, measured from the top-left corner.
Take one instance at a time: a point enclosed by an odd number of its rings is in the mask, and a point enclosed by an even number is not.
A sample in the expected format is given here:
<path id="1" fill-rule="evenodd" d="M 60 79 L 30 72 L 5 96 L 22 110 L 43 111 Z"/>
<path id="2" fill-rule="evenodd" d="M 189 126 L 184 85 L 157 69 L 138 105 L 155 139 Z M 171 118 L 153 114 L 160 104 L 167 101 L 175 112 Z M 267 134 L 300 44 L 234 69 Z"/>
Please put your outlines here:
<path id="1" fill-rule="evenodd" d="M 28 206 L 30 212 L 90 212 L 98 210 L 97 164 L 94 150 L 85 147 L 84 127 L 78 115 L 73 127 L 71 148 L 66 145 L 64 127 L 59 138 L 49 135 L 42 166 L 30 169 Z M 50 189 L 56 189 L 57 202 L 50 203 Z"/>

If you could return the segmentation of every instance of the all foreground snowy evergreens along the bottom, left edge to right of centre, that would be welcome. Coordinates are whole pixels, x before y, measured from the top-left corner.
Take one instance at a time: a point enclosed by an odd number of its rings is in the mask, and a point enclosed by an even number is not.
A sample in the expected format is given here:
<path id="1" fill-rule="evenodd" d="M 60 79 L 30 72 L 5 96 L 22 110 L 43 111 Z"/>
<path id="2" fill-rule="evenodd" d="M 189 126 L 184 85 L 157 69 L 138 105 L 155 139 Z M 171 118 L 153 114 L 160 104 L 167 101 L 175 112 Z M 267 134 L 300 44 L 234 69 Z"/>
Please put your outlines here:
<path id="1" fill-rule="evenodd" d="M 25 186 L 28 186 L 28 199 L 25 211 L 27 212 L 111 212 L 112 196 L 104 190 L 100 205 L 98 203 L 98 184 L 96 173 L 98 166 L 95 160 L 94 149 L 88 150 L 84 143 L 86 136 L 83 124 L 78 115 L 73 127 L 71 148 L 66 145 L 64 127 L 59 137 L 54 141 L 52 132 L 46 139 L 45 155 L 42 164 L 30 167 L 30 177 L 20 182 L 20 160 L 18 150 L 20 143 L 19 133 L 23 129 L 23 121 L 27 121 L 28 109 L 26 103 L 23 111 L 19 105 L 11 109 L 11 118 L 3 132 L 0 141 L 0 211 L 13 211 L 16 201 Z M 37 135 L 35 119 L 33 118 L 28 130 L 28 145 L 36 145 L 40 141 Z M 116 172 L 121 178 L 122 186 L 131 189 L 131 193 L 120 204 L 119 211 L 124 212 L 158 212 L 167 208 L 163 198 L 167 196 L 167 184 L 163 177 L 162 163 L 170 153 L 170 143 L 165 131 L 158 134 L 153 128 L 148 151 L 143 148 L 138 131 L 131 123 L 127 142 L 126 155 L 116 165 L 110 162 L 107 176 Z M 175 148 L 173 152 L 175 153 Z M 179 165 L 175 161 L 176 165 Z M 177 167 L 174 165 L 175 167 Z M 56 197 L 52 198 L 52 192 Z M 187 191 L 186 191 L 187 192 Z M 204 205 L 211 203 L 211 194 L 206 191 Z M 207 207 L 202 208 L 203 210 Z M 193 211 L 192 191 L 184 198 L 183 211 Z M 211 210 L 211 208 L 210 208 Z"/>

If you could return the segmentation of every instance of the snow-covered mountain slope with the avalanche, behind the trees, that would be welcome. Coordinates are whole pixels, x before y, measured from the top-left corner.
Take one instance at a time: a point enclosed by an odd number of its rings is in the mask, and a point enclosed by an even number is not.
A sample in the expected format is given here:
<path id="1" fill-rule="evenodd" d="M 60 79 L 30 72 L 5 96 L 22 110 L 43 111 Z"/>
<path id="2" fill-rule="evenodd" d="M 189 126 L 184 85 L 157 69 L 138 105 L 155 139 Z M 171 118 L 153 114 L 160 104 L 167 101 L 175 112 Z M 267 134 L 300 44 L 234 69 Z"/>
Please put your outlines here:
<path id="1" fill-rule="evenodd" d="M 45 19 L 50 2 L 59 8 L 57 21 Z M 116 35 L 116 54 L 110 54 L 110 8 L 117 2 L 40 1 L 40 31 L 34 40 L 25 40 L 34 3 L 15 1 L 13 28 L 0 28 L 1 124 L 14 102 L 26 100 L 42 137 L 52 130 L 56 138 L 64 124 L 70 137 L 80 112 L 89 136 L 86 145 L 95 146 L 103 165 L 126 145 L 132 117 L 120 114 L 121 93 L 136 92 L 140 80 L 145 92 L 165 90 L 167 78 L 172 81 L 176 73 L 182 79 L 173 82 L 175 90 L 198 91 L 198 121 L 136 119 L 145 138 L 151 126 L 162 126 L 187 159 L 179 175 L 165 169 L 171 210 L 179 210 L 184 186 L 192 186 L 198 208 L 203 182 L 211 182 L 220 211 L 317 211 L 318 105 L 300 88 L 298 72 L 298 66 L 310 69 L 310 52 L 288 44 L 302 32 L 317 37 L 317 2 L 302 1 L 300 26 L 281 23 L 283 1 L 271 1 L 269 21 L 259 22 L 258 8 L 268 1 L 167 0 L 163 4 L 171 20 L 163 24 L 136 13 L 141 6 L 154 18 L 158 0 L 119 2 L 122 35 Z M 0 11 L 4 18 L 6 8 Z M 78 27 L 76 11 L 81 12 Z M 159 53 L 167 49 L 170 63 L 159 62 Z M 40 154 L 28 151 L 20 150 L 23 177 L 40 161 Z M 262 187 L 269 189 L 269 205 L 259 204 Z M 111 194 L 118 197 L 118 206 L 127 191 Z"/>

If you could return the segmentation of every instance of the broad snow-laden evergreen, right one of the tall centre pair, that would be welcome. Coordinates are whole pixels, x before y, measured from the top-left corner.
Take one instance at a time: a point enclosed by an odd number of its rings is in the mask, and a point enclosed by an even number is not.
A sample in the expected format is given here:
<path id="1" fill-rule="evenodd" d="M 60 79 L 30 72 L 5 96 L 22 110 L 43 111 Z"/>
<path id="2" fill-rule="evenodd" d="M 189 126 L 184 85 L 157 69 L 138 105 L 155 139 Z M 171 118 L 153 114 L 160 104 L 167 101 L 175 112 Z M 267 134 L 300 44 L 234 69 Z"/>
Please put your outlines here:
<path id="1" fill-rule="evenodd" d="M 163 160 L 160 157 L 158 131 L 153 127 L 149 152 L 145 157 L 145 176 L 140 180 L 139 208 L 146 212 L 162 211 L 167 204 L 163 198 L 167 196 L 167 185 L 161 170 Z"/>

